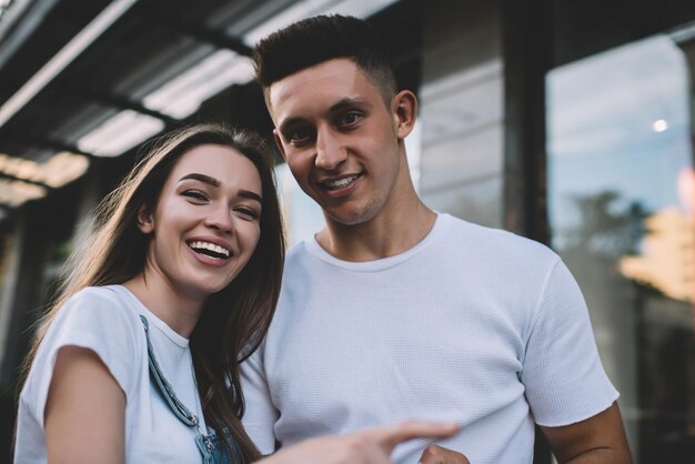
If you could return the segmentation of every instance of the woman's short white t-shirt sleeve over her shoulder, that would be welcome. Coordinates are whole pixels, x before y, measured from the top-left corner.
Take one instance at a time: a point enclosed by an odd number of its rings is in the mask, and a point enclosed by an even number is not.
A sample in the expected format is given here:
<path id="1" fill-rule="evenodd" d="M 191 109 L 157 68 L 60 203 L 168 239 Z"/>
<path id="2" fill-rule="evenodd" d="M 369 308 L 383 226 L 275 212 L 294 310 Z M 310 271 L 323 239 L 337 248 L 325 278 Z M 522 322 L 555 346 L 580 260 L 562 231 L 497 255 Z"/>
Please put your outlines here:
<path id="1" fill-rule="evenodd" d="M 128 396 L 135 385 L 137 334 L 133 313 L 105 289 L 87 289 L 59 311 L 41 342 L 21 400 L 43 427 L 48 390 L 58 352 L 66 346 L 93 351 Z"/>

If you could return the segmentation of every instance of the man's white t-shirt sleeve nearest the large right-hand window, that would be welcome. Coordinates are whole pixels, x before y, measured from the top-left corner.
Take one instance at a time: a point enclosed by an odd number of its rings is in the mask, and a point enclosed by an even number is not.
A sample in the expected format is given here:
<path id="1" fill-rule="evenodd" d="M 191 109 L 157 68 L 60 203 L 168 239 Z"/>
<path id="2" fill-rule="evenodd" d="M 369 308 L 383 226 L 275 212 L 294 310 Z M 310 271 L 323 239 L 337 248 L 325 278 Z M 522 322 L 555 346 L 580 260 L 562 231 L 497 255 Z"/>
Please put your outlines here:
<path id="1" fill-rule="evenodd" d="M 534 420 L 543 426 L 592 417 L 618 396 L 601 364 L 582 292 L 560 259 L 538 301 L 521 379 Z"/>

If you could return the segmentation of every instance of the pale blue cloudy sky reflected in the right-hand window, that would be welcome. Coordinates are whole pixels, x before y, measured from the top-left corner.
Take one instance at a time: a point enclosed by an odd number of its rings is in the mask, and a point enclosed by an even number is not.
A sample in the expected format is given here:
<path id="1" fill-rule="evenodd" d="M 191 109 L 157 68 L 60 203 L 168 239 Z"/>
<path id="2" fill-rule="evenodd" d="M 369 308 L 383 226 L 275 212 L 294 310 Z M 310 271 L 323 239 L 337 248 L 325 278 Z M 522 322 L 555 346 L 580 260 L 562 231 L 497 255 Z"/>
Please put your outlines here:
<path id="1" fill-rule="evenodd" d="M 617 191 L 648 211 L 678 203 L 693 164 L 689 78 L 681 49 L 655 37 L 553 70 L 547 77 L 550 215 L 578 221 L 571 198 Z M 656 132 L 654 121 L 668 129 Z"/>

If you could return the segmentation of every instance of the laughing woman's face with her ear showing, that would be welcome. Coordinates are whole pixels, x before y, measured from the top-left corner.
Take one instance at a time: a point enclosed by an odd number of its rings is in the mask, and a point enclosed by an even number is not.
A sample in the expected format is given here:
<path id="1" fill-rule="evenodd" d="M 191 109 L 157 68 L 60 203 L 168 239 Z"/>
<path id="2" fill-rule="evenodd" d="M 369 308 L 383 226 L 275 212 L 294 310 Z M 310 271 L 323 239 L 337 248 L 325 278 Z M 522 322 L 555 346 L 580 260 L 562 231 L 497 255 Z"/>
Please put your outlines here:
<path id="1" fill-rule="evenodd" d="M 141 210 L 151 235 L 145 275 L 204 300 L 224 289 L 249 262 L 261 234 L 261 178 L 238 151 L 215 144 L 184 153 L 154 211 Z"/>

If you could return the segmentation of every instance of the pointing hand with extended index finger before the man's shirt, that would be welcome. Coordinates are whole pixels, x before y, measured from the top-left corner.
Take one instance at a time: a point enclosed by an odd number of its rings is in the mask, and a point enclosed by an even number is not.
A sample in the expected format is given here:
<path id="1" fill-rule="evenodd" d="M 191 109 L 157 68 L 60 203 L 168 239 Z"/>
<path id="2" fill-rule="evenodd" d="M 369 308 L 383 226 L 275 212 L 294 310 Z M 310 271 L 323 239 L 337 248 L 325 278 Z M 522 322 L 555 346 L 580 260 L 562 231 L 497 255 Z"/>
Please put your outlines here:
<path id="1" fill-rule="evenodd" d="M 455 424 L 409 421 L 349 435 L 308 440 L 283 448 L 258 464 L 391 464 L 391 452 L 399 443 L 413 438 L 444 438 L 457 431 L 459 426 Z M 432 461 L 435 462 L 439 461 Z"/>

